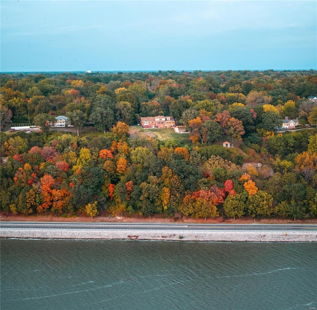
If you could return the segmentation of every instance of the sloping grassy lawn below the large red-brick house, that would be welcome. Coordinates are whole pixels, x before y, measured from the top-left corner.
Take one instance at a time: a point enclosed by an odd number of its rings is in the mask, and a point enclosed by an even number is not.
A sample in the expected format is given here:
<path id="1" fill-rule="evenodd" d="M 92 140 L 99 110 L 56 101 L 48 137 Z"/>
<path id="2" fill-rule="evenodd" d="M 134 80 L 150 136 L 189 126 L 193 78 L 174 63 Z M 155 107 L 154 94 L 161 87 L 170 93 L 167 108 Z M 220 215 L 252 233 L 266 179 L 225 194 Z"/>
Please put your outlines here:
<path id="1" fill-rule="evenodd" d="M 188 140 L 189 134 L 177 134 L 173 128 L 165 129 L 142 129 L 141 126 L 130 126 L 130 137 L 134 139 L 149 139 L 154 137 L 159 141 L 166 140 Z"/>

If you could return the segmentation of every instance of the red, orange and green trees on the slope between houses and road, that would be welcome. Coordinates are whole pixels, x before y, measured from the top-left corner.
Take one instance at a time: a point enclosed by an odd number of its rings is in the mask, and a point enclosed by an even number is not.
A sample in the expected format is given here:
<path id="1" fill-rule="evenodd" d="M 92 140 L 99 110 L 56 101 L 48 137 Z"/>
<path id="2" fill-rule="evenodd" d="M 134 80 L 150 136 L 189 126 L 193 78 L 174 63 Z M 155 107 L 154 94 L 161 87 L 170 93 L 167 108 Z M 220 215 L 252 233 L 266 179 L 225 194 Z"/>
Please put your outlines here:
<path id="1" fill-rule="evenodd" d="M 316 130 L 268 137 L 258 147 L 271 150 L 277 144 L 281 147 L 274 150 L 283 154 L 273 158 L 248 147 L 242 153 L 189 141 L 183 146 L 155 139 L 132 142 L 122 122 L 106 134 L 49 133 L 46 142 L 41 133 L 1 133 L 1 154 L 8 157 L 1 164 L 1 209 L 89 216 L 316 217 Z"/>

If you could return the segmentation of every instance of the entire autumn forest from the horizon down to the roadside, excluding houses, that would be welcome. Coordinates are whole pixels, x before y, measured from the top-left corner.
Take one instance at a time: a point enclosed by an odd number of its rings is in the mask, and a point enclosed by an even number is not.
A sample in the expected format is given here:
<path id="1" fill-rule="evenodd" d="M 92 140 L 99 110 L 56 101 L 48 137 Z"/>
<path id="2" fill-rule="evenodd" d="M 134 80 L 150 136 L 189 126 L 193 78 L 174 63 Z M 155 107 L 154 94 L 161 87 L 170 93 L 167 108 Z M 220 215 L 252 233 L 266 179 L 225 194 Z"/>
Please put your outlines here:
<path id="1" fill-rule="evenodd" d="M 315 70 L 1 73 L 0 87 L 1 211 L 317 217 Z M 77 131 L 53 131 L 58 115 Z M 157 115 L 189 134 L 130 135 Z M 284 117 L 298 130 L 276 132 Z M 21 123 L 42 130 L 8 132 Z"/>

